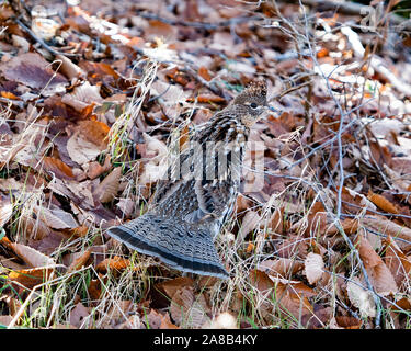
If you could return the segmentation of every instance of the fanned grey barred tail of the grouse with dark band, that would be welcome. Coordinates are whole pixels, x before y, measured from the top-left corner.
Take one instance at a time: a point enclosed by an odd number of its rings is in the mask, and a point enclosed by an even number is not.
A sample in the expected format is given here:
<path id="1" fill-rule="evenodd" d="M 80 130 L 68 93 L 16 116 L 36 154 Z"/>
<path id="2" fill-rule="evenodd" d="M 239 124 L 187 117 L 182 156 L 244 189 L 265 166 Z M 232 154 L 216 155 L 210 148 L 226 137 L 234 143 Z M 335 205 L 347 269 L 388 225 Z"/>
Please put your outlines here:
<path id="1" fill-rule="evenodd" d="M 140 253 L 158 257 L 183 272 L 228 278 L 209 230 L 175 218 L 146 214 L 107 234 Z"/>

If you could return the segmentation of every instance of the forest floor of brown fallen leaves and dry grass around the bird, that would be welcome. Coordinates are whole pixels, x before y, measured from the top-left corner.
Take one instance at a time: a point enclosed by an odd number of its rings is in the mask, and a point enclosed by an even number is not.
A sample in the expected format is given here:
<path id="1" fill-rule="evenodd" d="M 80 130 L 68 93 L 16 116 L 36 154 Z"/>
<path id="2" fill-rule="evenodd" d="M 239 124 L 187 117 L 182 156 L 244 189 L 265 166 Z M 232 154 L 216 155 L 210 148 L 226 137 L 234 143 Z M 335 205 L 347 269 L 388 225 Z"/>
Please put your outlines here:
<path id="1" fill-rule="evenodd" d="M 0 1 L 0 325 L 410 328 L 400 4 Z M 147 208 L 173 133 L 256 79 L 281 113 L 253 126 L 216 239 L 230 279 L 110 238 Z"/>

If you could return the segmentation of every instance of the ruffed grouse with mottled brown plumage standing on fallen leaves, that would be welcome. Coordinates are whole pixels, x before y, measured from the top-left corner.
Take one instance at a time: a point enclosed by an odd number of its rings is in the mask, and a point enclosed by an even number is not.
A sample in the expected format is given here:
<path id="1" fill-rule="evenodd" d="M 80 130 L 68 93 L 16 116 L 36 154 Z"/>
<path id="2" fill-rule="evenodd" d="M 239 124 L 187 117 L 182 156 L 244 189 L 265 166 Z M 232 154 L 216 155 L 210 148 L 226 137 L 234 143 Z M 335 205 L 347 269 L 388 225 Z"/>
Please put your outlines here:
<path id="1" fill-rule="evenodd" d="M 109 235 L 181 271 L 228 278 L 214 239 L 237 199 L 250 127 L 267 109 L 265 83 L 251 83 L 194 134 L 148 212 Z"/>

